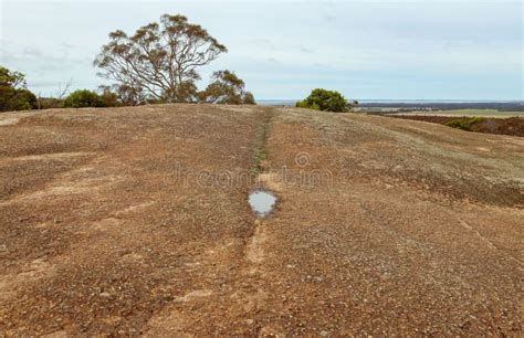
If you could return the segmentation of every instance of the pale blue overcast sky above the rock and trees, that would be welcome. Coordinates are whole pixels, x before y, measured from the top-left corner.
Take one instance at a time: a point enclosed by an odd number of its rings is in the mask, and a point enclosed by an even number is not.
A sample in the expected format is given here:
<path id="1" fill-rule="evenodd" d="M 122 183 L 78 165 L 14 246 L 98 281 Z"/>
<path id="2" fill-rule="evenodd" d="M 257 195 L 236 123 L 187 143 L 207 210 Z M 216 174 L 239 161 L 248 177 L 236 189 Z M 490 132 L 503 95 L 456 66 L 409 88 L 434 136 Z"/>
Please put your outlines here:
<path id="1" fill-rule="evenodd" d="M 358 99 L 523 99 L 521 1 L 0 0 L 0 64 L 29 87 L 96 88 L 107 34 L 181 13 L 229 49 L 229 68 L 259 99 L 314 87 Z M 200 84 L 203 86 L 205 82 Z"/>

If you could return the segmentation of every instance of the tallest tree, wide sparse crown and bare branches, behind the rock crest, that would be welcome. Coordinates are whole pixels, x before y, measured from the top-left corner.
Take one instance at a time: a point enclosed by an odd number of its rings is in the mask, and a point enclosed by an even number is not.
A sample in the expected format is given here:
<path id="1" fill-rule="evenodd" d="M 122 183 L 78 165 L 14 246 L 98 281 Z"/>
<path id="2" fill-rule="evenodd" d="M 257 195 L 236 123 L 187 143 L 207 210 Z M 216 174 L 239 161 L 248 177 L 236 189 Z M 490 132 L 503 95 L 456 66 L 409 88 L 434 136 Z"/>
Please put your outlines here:
<path id="1" fill-rule="evenodd" d="M 136 99 L 192 102 L 197 70 L 226 53 L 227 47 L 184 15 L 165 14 L 133 35 L 117 30 L 102 46 L 94 65 L 98 75 L 132 92 Z"/>

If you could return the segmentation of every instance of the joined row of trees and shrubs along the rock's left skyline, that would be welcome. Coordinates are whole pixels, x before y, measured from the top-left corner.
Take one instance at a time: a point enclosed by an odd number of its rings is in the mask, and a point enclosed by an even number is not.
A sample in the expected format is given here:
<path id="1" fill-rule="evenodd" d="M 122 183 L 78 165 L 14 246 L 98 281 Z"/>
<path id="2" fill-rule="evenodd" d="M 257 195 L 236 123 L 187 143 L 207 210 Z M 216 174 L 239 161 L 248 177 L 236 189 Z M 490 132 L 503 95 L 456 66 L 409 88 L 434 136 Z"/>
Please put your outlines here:
<path id="1" fill-rule="evenodd" d="M 0 112 L 62 107 L 115 107 L 157 103 L 255 104 L 234 72 L 217 71 L 203 91 L 198 68 L 227 47 L 184 15 L 160 18 L 133 35 L 117 30 L 102 46 L 94 65 L 112 82 L 97 91 L 77 89 L 40 97 L 27 88 L 24 74 L 0 66 Z"/>

